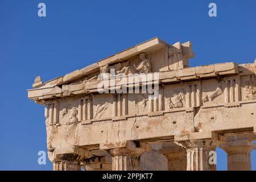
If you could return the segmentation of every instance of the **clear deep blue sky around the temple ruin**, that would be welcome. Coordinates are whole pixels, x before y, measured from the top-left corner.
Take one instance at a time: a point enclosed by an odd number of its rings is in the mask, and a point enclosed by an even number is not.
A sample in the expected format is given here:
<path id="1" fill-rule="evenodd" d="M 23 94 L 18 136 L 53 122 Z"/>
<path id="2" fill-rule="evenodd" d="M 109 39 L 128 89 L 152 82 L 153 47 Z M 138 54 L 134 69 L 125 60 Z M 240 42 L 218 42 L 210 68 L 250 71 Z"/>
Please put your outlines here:
<path id="1" fill-rule="evenodd" d="M 38 4 L 46 3 L 46 17 Z M 217 17 L 208 5 L 217 4 Z M 36 76 L 43 81 L 81 69 L 158 36 L 193 42 L 191 66 L 256 58 L 256 1 L 0 0 L 0 169 L 48 170 L 44 107 L 28 100 Z M 242 122 L 242 121 L 241 121 Z M 251 153 L 256 170 L 256 152 Z M 217 150 L 217 169 L 226 154 Z"/>

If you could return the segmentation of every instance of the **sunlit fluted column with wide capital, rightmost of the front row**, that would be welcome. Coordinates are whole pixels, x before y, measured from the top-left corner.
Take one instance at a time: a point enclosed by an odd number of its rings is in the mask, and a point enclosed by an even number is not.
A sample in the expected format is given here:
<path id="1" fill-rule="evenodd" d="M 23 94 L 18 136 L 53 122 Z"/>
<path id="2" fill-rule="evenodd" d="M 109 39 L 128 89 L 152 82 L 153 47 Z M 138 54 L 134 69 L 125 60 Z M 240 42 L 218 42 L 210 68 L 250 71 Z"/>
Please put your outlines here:
<path id="1" fill-rule="evenodd" d="M 187 151 L 187 171 L 216 170 L 216 147 L 218 140 L 195 139 L 179 142 Z"/>

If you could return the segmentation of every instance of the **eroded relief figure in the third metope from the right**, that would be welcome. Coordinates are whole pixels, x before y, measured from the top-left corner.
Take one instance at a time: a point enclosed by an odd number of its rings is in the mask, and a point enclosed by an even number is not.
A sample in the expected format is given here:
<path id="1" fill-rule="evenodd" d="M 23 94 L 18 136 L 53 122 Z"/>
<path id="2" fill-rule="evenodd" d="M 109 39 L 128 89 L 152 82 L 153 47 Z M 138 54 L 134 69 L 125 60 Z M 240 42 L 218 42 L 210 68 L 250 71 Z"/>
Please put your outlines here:
<path id="1" fill-rule="evenodd" d="M 174 97 L 168 98 L 167 99 L 167 104 L 170 109 L 174 108 L 180 108 L 183 107 L 185 99 L 184 99 L 184 91 L 183 92 L 177 92 L 176 90 L 174 91 Z"/>

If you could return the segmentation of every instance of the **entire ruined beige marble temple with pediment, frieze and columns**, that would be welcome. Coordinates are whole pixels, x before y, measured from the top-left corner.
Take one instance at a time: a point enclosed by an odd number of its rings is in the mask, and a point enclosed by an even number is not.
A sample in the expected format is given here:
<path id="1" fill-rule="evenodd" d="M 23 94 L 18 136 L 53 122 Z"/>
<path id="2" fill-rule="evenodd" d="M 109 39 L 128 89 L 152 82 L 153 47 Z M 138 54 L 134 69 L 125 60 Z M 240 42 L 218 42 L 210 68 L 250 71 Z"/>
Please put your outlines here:
<path id="1" fill-rule="evenodd" d="M 251 170 L 256 63 L 189 67 L 193 56 L 191 42 L 153 38 L 65 76 L 36 77 L 28 98 L 45 106 L 53 170 L 216 170 L 216 147 L 228 170 Z"/>

